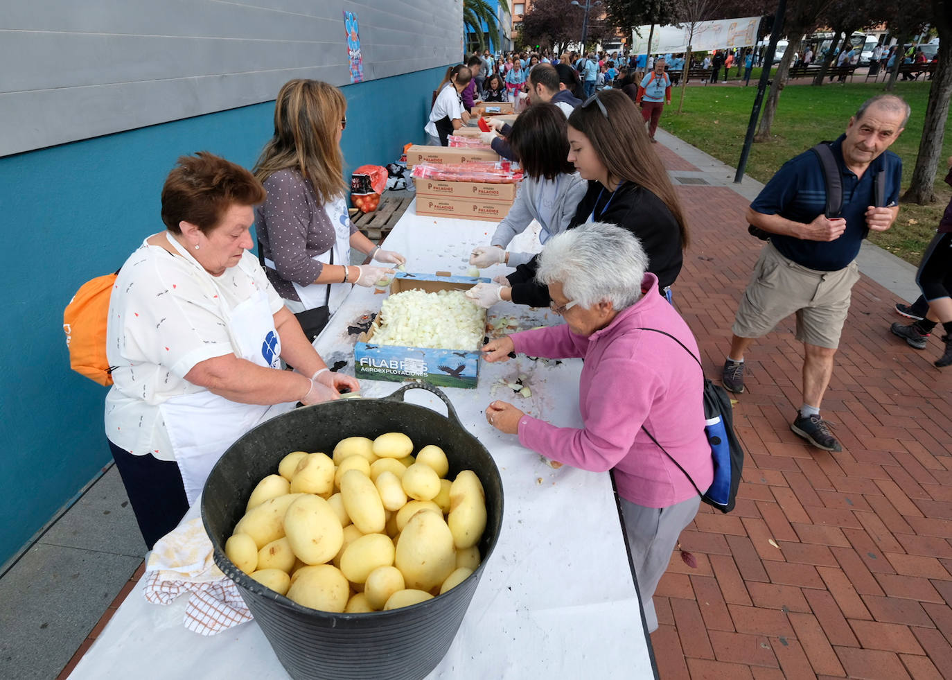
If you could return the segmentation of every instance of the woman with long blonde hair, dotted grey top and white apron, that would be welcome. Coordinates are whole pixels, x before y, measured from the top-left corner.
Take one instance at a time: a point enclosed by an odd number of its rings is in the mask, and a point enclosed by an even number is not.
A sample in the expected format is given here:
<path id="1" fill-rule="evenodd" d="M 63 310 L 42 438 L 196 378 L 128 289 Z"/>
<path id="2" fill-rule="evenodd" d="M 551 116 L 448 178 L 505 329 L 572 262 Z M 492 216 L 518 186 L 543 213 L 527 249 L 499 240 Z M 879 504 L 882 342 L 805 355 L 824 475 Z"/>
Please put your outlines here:
<path id="1" fill-rule="evenodd" d="M 354 284 L 373 286 L 392 269 L 350 266 L 350 249 L 401 265 L 350 222 L 341 135 L 347 100 L 319 80 L 291 80 L 274 104 L 274 134 L 254 167 L 268 197 L 255 209 L 258 253 L 268 280 L 308 340 L 327 325 Z"/>

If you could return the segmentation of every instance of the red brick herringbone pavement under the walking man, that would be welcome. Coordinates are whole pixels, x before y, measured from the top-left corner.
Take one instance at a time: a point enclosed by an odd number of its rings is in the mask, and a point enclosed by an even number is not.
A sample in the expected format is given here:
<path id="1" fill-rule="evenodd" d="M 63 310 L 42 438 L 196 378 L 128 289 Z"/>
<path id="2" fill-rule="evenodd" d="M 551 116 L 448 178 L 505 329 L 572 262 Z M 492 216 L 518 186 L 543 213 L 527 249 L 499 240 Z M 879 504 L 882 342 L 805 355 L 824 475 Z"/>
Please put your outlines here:
<path id="1" fill-rule="evenodd" d="M 730 188 L 678 190 L 693 245 L 675 302 L 705 373 L 720 378 L 762 243 L 745 229 L 749 202 Z M 747 452 L 737 508 L 702 505 L 681 537 L 697 568 L 676 550 L 655 595 L 663 680 L 952 674 L 952 369 L 932 366 L 937 338 L 917 351 L 889 332 L 902 320 L 896 299 L 865 276 L 853 289 L 823 399 L 843 452 L 789 429 L 802 402 L 793 317 L 747 354 L 734 407 Z"/>

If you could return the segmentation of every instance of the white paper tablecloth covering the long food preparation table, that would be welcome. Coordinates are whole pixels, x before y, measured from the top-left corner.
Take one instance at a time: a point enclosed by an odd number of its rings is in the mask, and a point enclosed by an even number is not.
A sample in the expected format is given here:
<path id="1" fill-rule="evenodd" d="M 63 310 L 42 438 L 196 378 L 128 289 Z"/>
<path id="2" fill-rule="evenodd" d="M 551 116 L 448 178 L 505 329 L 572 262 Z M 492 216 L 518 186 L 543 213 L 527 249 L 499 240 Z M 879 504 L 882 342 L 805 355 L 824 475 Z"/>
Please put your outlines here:
<path id="1" fill-rule="evenodd" d="M 538 250 L 538 227 L 511 250 Z M 488 244 L 495 224 L 416 215 L 410 206 L 386 248 L 407 255 L 407 271 L 466 274 L 468 253 Z M 485 270 L 494 276 L 503 266 Z M 315 342 L 327 363 L 347 361 L 353 373 L 352 327 L 380 309 L 382 296 L 355 288 Z M 490 322 L 512 319 L 520 329 L 559 323 L 547 310 L 510 303 L 490 310 Z M 463 625 L 430 678 L 650 678 L 654 676 L 611 480 L 605 473 L 553 470 L 515 435 L 489 427 L 483 410 L 495 398 L 562 426 L 580 426 L 579 360 L 553 362 L 520 355 L 484 362 L 479 387 L 444 388 L 466 430 L 486 446 L 503 477 L 505 510 L 495 551 Z M 498 383 L 526 375 L 524 399 Z M 366 396 L 384 396 L 399 383 L 362 381 Z M 407 401 L 441 413 L 446 406 L 424 390 Z M 182 627 L 187 598 L 150 605 L 142 583 L 113 615 L 71 678 L 287 678 L 254 622 L 214 637 Z"/>

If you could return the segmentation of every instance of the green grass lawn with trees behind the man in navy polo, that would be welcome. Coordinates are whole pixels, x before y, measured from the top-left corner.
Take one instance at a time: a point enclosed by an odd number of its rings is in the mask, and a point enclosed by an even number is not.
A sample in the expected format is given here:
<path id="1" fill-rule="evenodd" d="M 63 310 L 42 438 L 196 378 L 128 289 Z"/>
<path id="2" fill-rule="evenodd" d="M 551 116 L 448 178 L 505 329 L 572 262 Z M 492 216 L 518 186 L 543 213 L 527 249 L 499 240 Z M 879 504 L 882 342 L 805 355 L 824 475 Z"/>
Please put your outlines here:
<path id="1" fill-rule="evenodd" d="M 734 70 L 731 70 L 733 73 Z M 677 113 L 680 90 L 672 92 L 672 106 L 665 107 L 661 125 L 685 142 L 736 168 L 744 147 L 744 134 L 750 120 L 753 87 L 688 87 L 684 93 L 684 111 Z M 928 101 L 929 82 L 896 83 L 896 94 L 912 107 L 912 115 L 900 138 L 890 150 L 902 158 L 902 189 L 908 186 L 916 165 L 922 136 L 922 119 Z M 766 182 L 784 161 L 807 150 L 821 140 L 836 139 L 846 128 L 849 116 L 863 101 L 883 91 L 883 83 L 847 83 L 792 85 L 783 89 L 770 142 L 754 144 L 746 173 Z M 939 202 L 931 206 L 902 204 L 899 219 L 892 229 L 875 234 L 871 240 L 902 259 L 919 264 L 922 251 L 934 235 L 952 190 L 942 181 L 945 159 L 952 155 L 952 117 L 946 122 L 942 167 L 936 172 Z"/>

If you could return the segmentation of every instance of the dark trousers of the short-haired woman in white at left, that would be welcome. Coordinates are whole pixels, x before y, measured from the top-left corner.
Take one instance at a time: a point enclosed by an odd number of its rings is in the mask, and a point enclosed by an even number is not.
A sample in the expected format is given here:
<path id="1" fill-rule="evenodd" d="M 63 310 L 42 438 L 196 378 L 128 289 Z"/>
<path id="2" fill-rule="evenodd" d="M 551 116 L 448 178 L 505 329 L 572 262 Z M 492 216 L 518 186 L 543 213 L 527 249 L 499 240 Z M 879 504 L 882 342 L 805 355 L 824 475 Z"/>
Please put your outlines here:
<path id="1" fill-rule="evenodd" d="M 151 453 L 134 455 L 109 442 L 112 459 L 129 494 L 142 537 L 149 550 L 175 529 L 188 512 L 182 473 L 173 460 L 159 460 Z"/>

